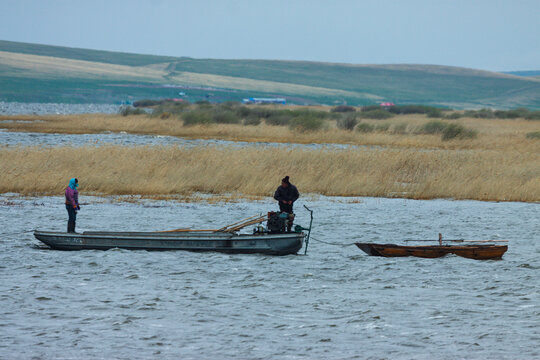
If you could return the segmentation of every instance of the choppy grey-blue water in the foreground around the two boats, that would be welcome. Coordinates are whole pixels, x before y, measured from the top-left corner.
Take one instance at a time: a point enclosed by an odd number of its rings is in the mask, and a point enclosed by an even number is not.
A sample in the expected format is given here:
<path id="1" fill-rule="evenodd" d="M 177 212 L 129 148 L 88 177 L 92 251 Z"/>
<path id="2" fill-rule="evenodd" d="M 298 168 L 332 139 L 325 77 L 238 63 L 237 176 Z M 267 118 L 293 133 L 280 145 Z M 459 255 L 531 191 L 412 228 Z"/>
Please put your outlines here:
<path id="1" fill-rule="evenodd" d="M 273 209 L 84 196 L 78 230 L 219 227 Z M 40 248 L 60 197 L 0 196 L 0 358 L 540 359 L 539 204 L 303 197 L 315 239 L 508 239 L 500 261 Z M 15 234 L 14 234 L 15 233 Z"/>

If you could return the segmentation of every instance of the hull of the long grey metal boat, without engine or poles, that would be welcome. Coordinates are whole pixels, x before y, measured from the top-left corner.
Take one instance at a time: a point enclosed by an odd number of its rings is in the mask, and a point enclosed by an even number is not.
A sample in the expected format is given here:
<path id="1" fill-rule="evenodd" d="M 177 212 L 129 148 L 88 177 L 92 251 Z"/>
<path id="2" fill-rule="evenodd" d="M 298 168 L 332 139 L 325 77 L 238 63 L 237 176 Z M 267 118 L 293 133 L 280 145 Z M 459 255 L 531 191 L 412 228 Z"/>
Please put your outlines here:
<path id="1" fill-rule="evenodd" d="M 296 254 L 304 233 L 237 235 L 216 232 L 84 232 L 35 231 L 39 241 L 57 250 L 188 250 L 225 253 Z"/>

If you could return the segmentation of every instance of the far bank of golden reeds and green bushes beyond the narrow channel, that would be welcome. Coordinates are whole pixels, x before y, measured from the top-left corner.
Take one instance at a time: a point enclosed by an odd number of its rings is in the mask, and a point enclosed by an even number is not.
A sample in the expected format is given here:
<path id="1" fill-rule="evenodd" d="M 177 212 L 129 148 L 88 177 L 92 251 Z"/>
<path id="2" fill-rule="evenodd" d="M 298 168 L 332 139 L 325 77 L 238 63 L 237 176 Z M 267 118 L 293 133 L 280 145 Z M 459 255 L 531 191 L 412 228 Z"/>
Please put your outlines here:
<path id="1" fill-rule="evenodd" d="M 119 115 L 0 116 L 0 128 L 54 133 L 124 131 L 248 142 L 442 148 L 505 146 L 509 141 L 535 139 L 533 133 L 540 128 L 537 121 L 540 112 L 527 109 L 454 111 L 421 105 L 388 108 L 246 106 L 236 102 L 190 104 L 165 100 L 142 100 L 134 105 L 123 108 Z M 493 135 L 500 136 L 493 138 Z"/>

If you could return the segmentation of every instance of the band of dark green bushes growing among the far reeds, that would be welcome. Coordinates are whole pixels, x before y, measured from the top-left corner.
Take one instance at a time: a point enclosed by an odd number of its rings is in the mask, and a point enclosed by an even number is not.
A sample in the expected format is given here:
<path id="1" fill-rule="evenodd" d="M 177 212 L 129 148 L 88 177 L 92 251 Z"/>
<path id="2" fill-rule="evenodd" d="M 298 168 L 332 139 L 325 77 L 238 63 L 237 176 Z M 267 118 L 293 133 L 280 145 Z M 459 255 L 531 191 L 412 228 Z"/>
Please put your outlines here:
<path id="1" fill-rule="evenodd" d="M 457 120 L 461 118 L 472 119 L 526 119 L 540 120 L 540 111 L 529 111 L 525 108 L 513 110 L 468 110 L 464 112 L 451 109 L 437 108 L 424 105 L 401 105 L 381 107 L 379 105 L 352 107 L 339 105 L 328 109 L 320 108 L 276 108 L 268 106 L 243 106 L 240 103 L 225 102 L 210 104 L 206 101 L 191 105 L 187 102 L 172 102 L 167 100 L 141 100 L 133 108 L 123 109 L 123 115 L 136 115 L 144 113 L 141 107 L 153 107 L 153 116 L 161 119 L 171 117 L 181 118 L 184 126 L 209 124 L 243 124 L 256 126 L 261 122 L 267 125 L 288 126 L 297 132 L 313 132 L 329 127 L 328 120 L 335 121 L 337 128 L 342 130 L 358 130 L 359 132 L 388 132 L 390 125 L 381 123 L 371 125 L 362 120 L 388 120 L 395 116 L 423 115 L 426 118 L 439 118 L 441 120 Z M 405 133 L 406 128 L 393 128 L 394 133 Z M 416 134 L 441 134 L 441 139 L 467 139 L 476 138 L 477 131 L 465 127 L 463 124 L 450 124 L 441 121 L 431 121 L 420 128 L 409 129 Z"/>

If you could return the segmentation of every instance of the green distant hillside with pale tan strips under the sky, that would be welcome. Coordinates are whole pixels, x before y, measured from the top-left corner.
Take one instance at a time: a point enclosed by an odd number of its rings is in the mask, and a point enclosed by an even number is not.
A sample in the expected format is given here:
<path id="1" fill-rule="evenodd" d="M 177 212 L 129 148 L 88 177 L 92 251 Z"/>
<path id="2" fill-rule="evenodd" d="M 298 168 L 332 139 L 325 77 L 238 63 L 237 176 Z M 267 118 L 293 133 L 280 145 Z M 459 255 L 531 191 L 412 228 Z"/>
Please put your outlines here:
<path id="1" fill-rule="evenodd" d="M 0 41 L 0 101 L 116 103 L 285 97 L 453 108 L 540 108 L 540 80 L 436 65 L 351 65 L 139 55 Z"/>

